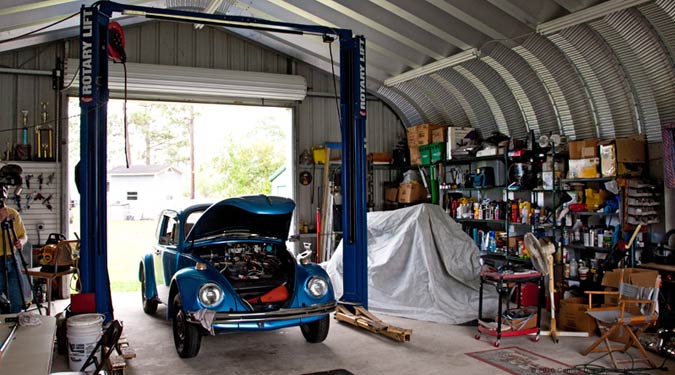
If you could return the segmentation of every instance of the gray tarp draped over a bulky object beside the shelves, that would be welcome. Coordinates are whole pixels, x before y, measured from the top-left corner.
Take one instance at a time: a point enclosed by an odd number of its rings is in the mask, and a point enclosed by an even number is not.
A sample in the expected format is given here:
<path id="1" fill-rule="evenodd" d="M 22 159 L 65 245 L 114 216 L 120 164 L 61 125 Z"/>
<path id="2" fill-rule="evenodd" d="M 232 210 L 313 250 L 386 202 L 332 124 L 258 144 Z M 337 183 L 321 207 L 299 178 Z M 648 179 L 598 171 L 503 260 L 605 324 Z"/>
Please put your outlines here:
<path id="1" fill-rule="evenodd" d="M 342 243 L 323 264 L 342 295 Z M 368 309 L 432 322 L 478 318 L 478 248 L 438 205 L 419 204 L 368 213 Z M 483 317 L 497 311 L 486 285 Z"/>

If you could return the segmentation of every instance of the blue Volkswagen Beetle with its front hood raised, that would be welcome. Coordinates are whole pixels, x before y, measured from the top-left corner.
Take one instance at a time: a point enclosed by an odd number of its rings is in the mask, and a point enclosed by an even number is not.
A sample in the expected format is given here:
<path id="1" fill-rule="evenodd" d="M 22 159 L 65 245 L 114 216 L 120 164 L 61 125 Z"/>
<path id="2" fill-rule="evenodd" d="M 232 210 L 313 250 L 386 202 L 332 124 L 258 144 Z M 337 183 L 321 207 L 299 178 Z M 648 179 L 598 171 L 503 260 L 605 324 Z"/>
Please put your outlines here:
<path id="1" fill-rule="evenodd" d="M 218 331 L 300 326 L 308 342 L 328 335 L 335 310 L 326 272 L 286 248 L 295 203 L 256 195 L 164 210 L 139 269 L 143 310 L 167 305 L 176 351 L 199 353 Z"/>

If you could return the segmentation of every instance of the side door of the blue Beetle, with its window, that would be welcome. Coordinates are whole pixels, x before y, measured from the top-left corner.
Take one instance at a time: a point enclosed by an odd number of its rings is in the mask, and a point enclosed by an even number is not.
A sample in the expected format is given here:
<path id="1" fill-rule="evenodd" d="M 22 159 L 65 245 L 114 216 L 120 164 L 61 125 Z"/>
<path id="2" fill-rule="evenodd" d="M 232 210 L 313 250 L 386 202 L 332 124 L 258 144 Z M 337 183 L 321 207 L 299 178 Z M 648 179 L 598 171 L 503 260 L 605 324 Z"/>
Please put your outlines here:
<path id="1" fill-rule="evenodd" d="M 178 251 L 178 218 L 173 211 L 167 211 L 162 215 L 157 231 L 157 244 L 153 249 L 153 264 L 155 273 L 155 285 L 157 296 L 168 303 L 169 286 L 175 272 L 176 253 Z"/>

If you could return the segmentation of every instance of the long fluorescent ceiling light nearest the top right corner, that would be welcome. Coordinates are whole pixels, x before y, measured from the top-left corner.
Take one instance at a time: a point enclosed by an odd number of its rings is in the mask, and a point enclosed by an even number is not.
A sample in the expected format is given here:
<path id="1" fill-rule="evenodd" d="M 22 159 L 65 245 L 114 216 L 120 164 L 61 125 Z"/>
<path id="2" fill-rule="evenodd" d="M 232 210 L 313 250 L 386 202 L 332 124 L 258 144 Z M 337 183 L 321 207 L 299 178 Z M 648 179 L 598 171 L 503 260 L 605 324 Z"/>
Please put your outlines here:
<path id="1" fill-rule="evenodd" d="M 539 24 L 537 26 L 537 33 L 541 35 L 557 33 L 562 29 L 580 25 L 586 22 L 591 22 L 610 13 L 636 7 L 650 1 L 652 0 L 609 0 L 578 12 L 574 12 L 567 16 Z"/>

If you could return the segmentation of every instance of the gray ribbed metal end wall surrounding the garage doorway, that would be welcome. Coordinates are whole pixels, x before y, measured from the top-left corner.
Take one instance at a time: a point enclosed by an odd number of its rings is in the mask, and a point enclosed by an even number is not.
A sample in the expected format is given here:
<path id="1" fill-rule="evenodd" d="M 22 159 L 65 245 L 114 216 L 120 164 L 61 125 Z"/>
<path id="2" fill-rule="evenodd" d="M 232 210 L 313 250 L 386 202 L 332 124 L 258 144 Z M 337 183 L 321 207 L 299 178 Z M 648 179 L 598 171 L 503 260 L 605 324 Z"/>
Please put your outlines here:
<path id="1" fill-rule="evenodd" d="M 192 25 L 149 22 L 125 27 L 127 55 L 129 62 L 168 64 L 230 70 L 263 71 L 270 73 L 300 74 L 307 80 L 309 96 L 301 103 L 294 105 L 294 146 L 296 172 L 300 170 L 297 160 L 300 152 L 325 142 L 340 142 L 340 125 L 333 77 L 317 68 L 304 63 L 296 63 L 287 56 L 269 48 L 243 40 L 225 30 L 205 27 L 195 30 Z M 65 50 L 64 52 L 64 45 Z M 79 41 L 70 39 L 65 43 L 54 43 L 40 48 L 19 52 L 0 54 L 0 64 L 17 68 L 51 69 L 55 57 L 67 54 L 67 57 L 79 57 Z M 37 57 L 36 57 L 37 56 Z M 337 87 L 339 90 L 339 86 Z M 14 127 L 18 123 L 19 111 L 29 110 L 29 124 L 39 119 L 39 102 L 49 101 L 49 118 L 54 118 L 53 98 L 50 77 L 16 76 L 0 74 L 0 90 L 4 99 L 0 102 L 0 141 L 14 143 L 20 134 Z M 312 93 L 318 93 L 313 95 Z M 229 103 L 227 98 L 222 102 Z M 292 103 L 287 103 L 291 106 Z M 73 114 L 71 114 L 73 115 Z M 75 114 L 76 115 L 76 114 Z M 66 115 L 64 114 L 64 117 Z M 63 125 L 67 121 L 63 121 Z M 8 131 L 10 130 L 11 131 Z M 394 111 L 382 101 L 368 100 L 367 137 L 368 152 L 391 152 L 398 140 L 405 136 L 403 126 Z M 61 134 L 61 133 L 59 133 Z M 65 133 L 63 133 L 65 134 Z M 3 138 L 4 136 L 4 138 Z M 64 154 L 65 155 L 65 154 Z M 60 163 L 64 175 L 67 161 Z M 311 168 L 311 167 L 310 167 Z M 312 188 L 299 183 L 295 184 L 297 211 L 296 220 L 314 222 L 318 189 L 321 185 L 320 168 L 316 168 L 314 202 L 312 204 Z M 383 178 L 388 173 L 376 173 L 376 198 L 381 198 Z M 67 178 L 62 178 L 67 181 Z M 297 181 L 297 179 L 294 179 Z M 66 191 L 67 189 L 63 189 Z M 65 194 L 65 193 L 64 193 Z M 65 198 L 64 198 L 65 199 Z M 381 203 L 380 203 L 381 206 Z M 65 207 L 62 205 L 62 207 Z M 64 219 L 61 219 L 62 222 Z M 64 231 L 54 228 L 55 232 Z"/>

